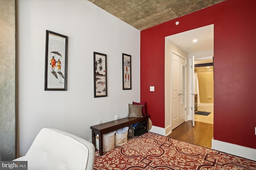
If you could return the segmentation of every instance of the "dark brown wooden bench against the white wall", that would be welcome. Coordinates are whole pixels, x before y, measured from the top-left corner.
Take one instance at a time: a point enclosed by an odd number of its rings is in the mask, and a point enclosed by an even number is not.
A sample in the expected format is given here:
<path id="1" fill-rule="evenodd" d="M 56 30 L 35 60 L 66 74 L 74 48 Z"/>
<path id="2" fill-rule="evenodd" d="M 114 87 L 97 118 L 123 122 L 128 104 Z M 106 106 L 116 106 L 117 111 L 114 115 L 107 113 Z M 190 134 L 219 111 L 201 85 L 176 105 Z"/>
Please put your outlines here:
<path id="1" fill-rule="evenodd" d="M 127 127 L 130 125 L 133 125 L 133 124 L 141 122 L 141 121 L 147 122 L 146 132 L 148 132 L 148 117 L 149 117 L 148 115 L 144 115 L 143 117 L 125 117 L 122 119 L 118 119 L 118 120 L 102 123 L 99 125 L 91 126 L 92 143 L 96 147 L 96 134 L 98 134 L 99 135 L 99 149 L 98 150 L 100 152 L 100 155 L 102 155 L 103 154 L 103 141 L 102 141 L 103 137 L 102 137 L 102 135 L 112 132 L 112 131 L 116 131 L 118 129 L 121 129 L 122 127 Z"/>

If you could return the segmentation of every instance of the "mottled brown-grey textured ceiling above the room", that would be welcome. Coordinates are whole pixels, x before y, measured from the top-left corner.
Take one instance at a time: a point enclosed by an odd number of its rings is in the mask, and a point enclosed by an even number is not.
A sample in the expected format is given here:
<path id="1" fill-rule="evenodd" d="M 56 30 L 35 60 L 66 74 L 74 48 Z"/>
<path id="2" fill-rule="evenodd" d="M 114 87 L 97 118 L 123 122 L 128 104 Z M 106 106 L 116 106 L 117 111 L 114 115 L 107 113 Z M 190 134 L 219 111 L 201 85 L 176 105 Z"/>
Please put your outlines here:
<path id="1" fill-rule="evenodd" d="M 138 30 L 212 6 L 224 0 L 88 0 Z"/>

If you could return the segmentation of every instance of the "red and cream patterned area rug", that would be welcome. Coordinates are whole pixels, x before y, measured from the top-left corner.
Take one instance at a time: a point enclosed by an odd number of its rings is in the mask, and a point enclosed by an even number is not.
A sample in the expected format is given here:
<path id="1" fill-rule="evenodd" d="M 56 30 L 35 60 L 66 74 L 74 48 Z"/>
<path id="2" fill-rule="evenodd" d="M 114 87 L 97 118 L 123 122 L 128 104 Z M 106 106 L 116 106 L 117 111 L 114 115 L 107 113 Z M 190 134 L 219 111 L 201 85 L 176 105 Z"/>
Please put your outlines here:
<path id="1" fill-rule="evenodd" d="M 94 170 L 256 170 L 256 162 L 149 132 L 95 152 Z"/>

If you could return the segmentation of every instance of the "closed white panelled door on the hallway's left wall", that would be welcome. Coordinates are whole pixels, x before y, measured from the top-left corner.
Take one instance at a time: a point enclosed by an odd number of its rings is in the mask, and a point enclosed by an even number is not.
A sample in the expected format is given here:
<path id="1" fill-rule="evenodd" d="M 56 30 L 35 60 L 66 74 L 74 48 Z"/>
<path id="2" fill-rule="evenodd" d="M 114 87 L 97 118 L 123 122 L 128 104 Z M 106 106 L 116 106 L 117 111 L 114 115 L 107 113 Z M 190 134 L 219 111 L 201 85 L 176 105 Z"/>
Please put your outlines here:
<path id="1" fill-rule="evenodd" d="M 186 66 L 182 57 L 173 52 L 171 55 L 171 117 L 174 129 L 185 121 Z"/>

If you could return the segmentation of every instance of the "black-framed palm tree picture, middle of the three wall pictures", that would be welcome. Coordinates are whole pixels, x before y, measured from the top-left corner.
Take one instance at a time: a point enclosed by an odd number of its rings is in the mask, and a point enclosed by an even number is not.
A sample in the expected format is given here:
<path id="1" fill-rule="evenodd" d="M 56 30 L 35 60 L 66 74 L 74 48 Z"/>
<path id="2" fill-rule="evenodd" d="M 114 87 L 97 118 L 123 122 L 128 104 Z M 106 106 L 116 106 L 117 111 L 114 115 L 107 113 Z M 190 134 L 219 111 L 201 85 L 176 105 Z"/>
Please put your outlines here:
<path id="1" fill-rule="evenodd" d="M 94 98 L 107 96 L 107 55 L 93 52 Z"/>

